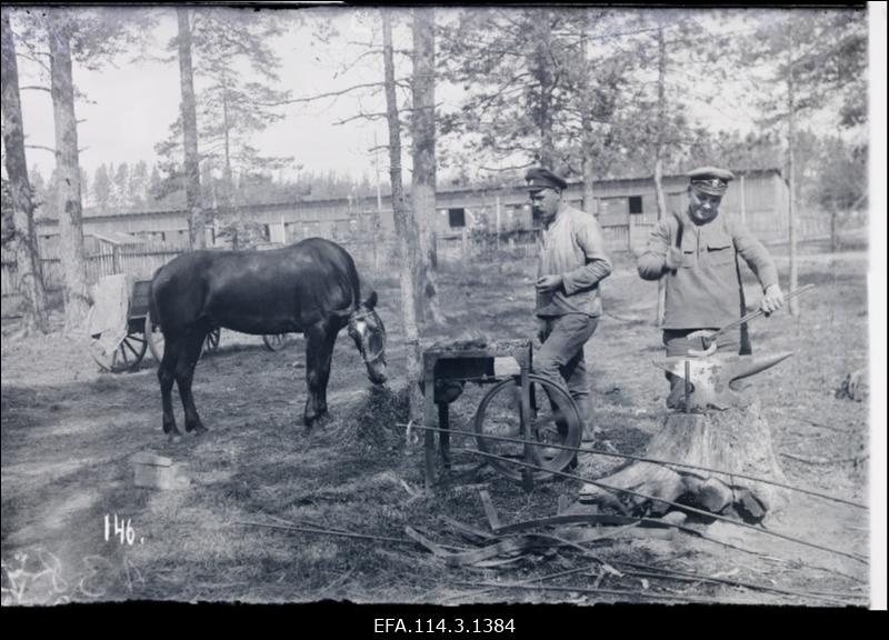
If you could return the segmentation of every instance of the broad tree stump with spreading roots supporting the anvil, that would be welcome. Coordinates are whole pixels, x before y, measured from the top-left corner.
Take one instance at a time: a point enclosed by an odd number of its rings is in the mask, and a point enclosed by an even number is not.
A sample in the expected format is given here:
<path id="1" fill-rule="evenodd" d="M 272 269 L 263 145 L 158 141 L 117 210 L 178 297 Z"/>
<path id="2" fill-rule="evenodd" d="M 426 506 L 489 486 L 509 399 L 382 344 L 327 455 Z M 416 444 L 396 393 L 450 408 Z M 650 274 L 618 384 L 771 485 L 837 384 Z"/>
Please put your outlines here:
<path id="1" fill-rule="evenodd" d="M 772 451 L 771 430 L 758 401 L 725 411 L 671 413 L 641 457 L 776 482 L 787 481 Z M 597 482 L 630 489 L 650 498 L 586 484 L 581 490 L 581 501 L 617 508 L 623 513 L 655 517 L 673 509 L 660 501 L 669 500 L 712 513 L 733 513 L 747 522 L 761 522 L 785 499 L 785 490 L 772 484 L 727 473 L 640 461 L 631 462 Z"/>

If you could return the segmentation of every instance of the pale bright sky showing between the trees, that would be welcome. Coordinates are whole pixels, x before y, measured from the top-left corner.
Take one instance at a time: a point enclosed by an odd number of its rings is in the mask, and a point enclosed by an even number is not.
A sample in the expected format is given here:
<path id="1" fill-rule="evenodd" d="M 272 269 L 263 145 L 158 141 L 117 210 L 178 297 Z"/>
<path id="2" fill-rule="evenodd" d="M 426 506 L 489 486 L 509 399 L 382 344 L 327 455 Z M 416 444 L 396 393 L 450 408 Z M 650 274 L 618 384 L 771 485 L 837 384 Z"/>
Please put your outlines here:
<path id="1" fill-rule="evenodd" d="M 286 38 L 273 42 L 273 49 L 283 63 L 280 89 L 290 91 L 292 98 L 300 98 L 382 78 L 381 56 L 361 58 L 361 53 L 367 51 L 361 43 L 372 41 L 378 48 L 381 46 L 374 10 L 313 8 L 300 13 L 307 16 L 304 28 L 291 30 Z M 179 66 L 174 56 L 164 49 L 176 36 L 176 17 L 172 8 L 158 9 L 157 14 L 160 20 L 152 33 L 154 43 L 148 50 L 153 50 L 157 56 L 167 56 L 167 61 L 131 60 L 133 56 L 127 54 L 99 71 L 74 66 L 74 82 L 87 97 L 78 100 L 76 106 L 81 121 L 78 128 L 82 149 L 80 162 L 90 176 L 102 163 L 133 164 L 139 160 L 153 163 L 157 159 L 154 146 L 168 136 L 169 126 L 178 116 Z M 314 19 L 320 14 L 334 17 L 333 22 L 340 30 L 340 38 L 332 44 L 318 43 L 312 37 Z M 447 19 L 447 14 L 448 11 L 439 9 L 439 19 Z M 727 13 L 713 10 L 712 16 L 716 27 L 732 28 L 730 19 L 721 19 Z M 396 49 L 410 47 L 410 32 L 403 24 L 396 29 L 394 39 Z M 358 63 L 352 64 L 356 60 Z M 397 76 L 409 73 L 410 63 L 404 56 L 397 57 L 397 64 L 400 67 Z M 21 84 L 46 84 L 47 80 L 40 79 L 36 71 L 33 63 L 20 60 Z M 692 114 L 713 130 L 750 131 L 753 121 L 743 100 L 749 91 L 749 87 L 741 84 L 723 84 L 711 106 L 698 103 Z M 21 96 L 27 143 L 52 148 L 49 93 L 22 91 Z M 460 97 L 459 88 L 437 87 L 437 100 L 446 106 L 456 103 Z M 384 120 L 353 120 L 337 124 L 360 110 L 383 111 L 382 92 L 360 91 L 338 99 L 290 104 L 283 110 L 286 118 L 260 133 L 254 143 L 264 154 L 293 158 L 293 164 L 301 166 L 303 171 L 333 171 L 358 180 L 367 176 L 372 181 L 376 174 L 372 149 L 388 139 Z M 29 167 L 37 166 L 48 178 L 54 164 L 52 153 L 41 149 L 28 149 L 27 153 Z M 409 154 L 404 156 L 404 164 L 409 168 Z M 386 153 L 380 151 L 376 157 L 384 177 L 388 172 Z M 292 178 L 294 171 L 289 171 L 288 177 Z"/>

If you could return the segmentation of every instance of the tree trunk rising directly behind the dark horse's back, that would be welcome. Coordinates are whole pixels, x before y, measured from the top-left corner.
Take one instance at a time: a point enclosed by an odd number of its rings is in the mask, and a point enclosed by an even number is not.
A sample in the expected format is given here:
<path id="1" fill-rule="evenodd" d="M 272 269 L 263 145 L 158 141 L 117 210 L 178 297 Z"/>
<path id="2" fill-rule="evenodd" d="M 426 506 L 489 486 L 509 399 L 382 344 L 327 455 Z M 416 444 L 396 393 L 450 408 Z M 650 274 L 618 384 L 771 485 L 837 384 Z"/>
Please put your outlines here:
<path id="1" fill-rule="evenodd" d="M 179 87 L 182 93 L 182 141 L 186 149 L 186 208 L 189 212 L 189 244 L 207 247 L 207 222 L 201 207 L 201 174 L 198 160 L 198 113 L 194 100 L 194 72 L 191 67 L 191 24 L 189 9 L 177 7 L 179 21 Z"/>

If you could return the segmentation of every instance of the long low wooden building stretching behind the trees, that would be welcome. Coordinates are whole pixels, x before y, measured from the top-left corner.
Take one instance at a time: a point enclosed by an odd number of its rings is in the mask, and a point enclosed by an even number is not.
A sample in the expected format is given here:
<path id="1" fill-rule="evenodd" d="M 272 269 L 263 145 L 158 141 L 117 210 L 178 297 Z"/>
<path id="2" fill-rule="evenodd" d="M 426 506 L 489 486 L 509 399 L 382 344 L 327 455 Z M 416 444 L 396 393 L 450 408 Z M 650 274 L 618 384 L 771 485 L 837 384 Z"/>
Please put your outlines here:
<path id="1" fill-rule="evenodd" d="M 788 188 L 777 169 L 736 171 L 737 180 L 723 198 L 723 216 L 743 221 L 765 242 L 786 242 L 788 237 Z M 667 206 L 687 206 L 688 180 L 667 176 L 662 181 Z M 565 197 L 582 207 L 583 184 L 570 183 Z M 655 183 L 651 178 L 599 180 L 593 184 L 595 211 L 602 226 L 608 250 L 638 251 L 657 222 Z M 436 194 L 434 226 L 442 259 L 493 258 L 501 249 L 520 257 L 536 251 L 537 229 L 522 184 L 510 188 L 444 186 Z M 226 247 L 214 220 L 226 220 L 226 210 L 208 210 L 207 243 Z M 298 198 L 241 207 L 242 220 L 254 223 L 260 243 L 281 246 L 320 236 L 346 244 L 356 260 L 374 268 L 390 263 L 394 237 L 391 199 Z M 801 240 L 829 234 L 827 219 L 801 217 Z M 186 210 L 107 213 L 84 211 L 83 234 L 87 281 L 108 273 L 150 278 L 154 270 L 188 249 L 189 219 Z M 44 284 L 61 287 L 58 222 L 38 221 L 38 243 Z M 2 293 L 14 296 L 18 280 L 14 256 L 3 252 Z"/>

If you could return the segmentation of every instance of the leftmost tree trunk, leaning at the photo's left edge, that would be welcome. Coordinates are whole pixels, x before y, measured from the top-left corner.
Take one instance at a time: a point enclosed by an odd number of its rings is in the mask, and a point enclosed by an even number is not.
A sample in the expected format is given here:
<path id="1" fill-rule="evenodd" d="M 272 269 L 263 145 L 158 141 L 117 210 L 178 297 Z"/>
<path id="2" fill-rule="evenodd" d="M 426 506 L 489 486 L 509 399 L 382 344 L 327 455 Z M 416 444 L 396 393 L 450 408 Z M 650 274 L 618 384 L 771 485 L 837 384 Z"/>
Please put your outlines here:
<path id="1" fill-rule="evenodd" d="M 40 272 L 40 257 L 34 233 L 34 204 L 28 180 L 28 163 L 24 157 L 24 126 L 19 97 L 19 66 L 16 61 L 16 42 L 9 14 L 3 12 L 2 26 L 2 104 L 3 148 L 6 149 L 7 176 L 9 177 L 10 204 L 14 228 L 16 272 L 21 297 L 22 334 L 40 331 L 46 333 L 47 296 Z"/>

